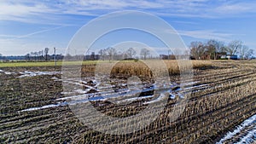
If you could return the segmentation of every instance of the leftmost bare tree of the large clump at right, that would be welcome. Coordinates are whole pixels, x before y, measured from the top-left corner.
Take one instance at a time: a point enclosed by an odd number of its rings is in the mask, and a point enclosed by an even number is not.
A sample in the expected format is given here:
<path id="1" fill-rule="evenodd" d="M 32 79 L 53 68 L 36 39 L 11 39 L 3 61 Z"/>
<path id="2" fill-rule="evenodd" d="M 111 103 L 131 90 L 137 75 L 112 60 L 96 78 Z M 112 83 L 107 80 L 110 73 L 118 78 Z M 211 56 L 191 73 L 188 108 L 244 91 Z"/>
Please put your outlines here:
<path id="1" fill-rule="evenodd" d="M 190 54 L 197 60 L 201 60 L 201 57 L 206 52 L 206 47 L 201 42 L 191 42 L 190 43 Z"/>

